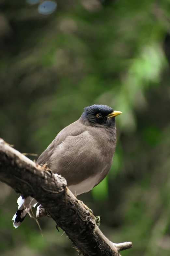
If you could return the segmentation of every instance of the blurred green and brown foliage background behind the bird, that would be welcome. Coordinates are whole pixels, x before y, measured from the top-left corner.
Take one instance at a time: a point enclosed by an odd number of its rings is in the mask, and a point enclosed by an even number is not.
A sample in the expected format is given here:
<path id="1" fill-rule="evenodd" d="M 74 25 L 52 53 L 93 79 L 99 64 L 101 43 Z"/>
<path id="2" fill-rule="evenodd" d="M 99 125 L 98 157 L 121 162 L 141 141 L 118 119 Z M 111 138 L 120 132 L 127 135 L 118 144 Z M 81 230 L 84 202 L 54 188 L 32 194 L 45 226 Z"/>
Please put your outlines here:
<path id="1" fill-rule="evenodd" d="M 0 1 L 0 137 L 39 155 L 84 107 L 122 111 L 111 170 L 78 199 L 133 242 L 123 256 L 170 255 L 169 1 L 45 2 Z M 29 217 L 14 229 L 17 198 L 0 183 L 1 256 L 78 255 L 50 218 L 43 237 Z"/>

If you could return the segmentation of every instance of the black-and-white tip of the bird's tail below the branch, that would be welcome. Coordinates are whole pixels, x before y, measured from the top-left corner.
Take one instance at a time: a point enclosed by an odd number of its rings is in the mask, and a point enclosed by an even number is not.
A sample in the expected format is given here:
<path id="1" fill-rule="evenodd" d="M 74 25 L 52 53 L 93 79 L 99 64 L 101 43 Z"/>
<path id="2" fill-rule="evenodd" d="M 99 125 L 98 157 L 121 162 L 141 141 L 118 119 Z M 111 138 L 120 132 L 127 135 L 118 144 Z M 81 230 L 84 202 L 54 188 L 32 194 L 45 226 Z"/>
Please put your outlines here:
<path id="1" fill-rule="evenodd" d="M 18 203 L 18 211 L 13 216 L 12 220 L 14 220 L 14 227 L 18 228 L 22 221 L 25 219 L 27 213 L 31 210 L 32 207 L 35 207 L 37 204 L 37 201 L 29 196 L 26 199 L 23 199 L 22 196 L 20 196 L 17 200 Z"/>

